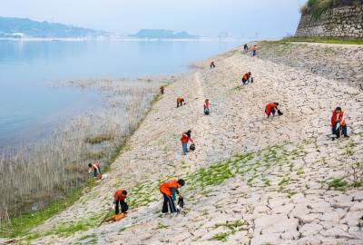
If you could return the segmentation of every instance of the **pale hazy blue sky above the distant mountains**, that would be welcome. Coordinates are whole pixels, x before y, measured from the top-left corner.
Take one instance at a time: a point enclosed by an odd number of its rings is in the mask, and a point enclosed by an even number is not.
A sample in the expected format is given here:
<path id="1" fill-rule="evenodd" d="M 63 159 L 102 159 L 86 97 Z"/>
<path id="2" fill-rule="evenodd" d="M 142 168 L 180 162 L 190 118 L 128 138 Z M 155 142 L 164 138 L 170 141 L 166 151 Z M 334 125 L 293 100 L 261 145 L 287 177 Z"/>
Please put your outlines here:
<path id="1" fill-rule="evenodd" d="M 294 34 L 306 0 L 0 0 L 0 16 L 132 34 L 142 28 L 217 36 Z"/>

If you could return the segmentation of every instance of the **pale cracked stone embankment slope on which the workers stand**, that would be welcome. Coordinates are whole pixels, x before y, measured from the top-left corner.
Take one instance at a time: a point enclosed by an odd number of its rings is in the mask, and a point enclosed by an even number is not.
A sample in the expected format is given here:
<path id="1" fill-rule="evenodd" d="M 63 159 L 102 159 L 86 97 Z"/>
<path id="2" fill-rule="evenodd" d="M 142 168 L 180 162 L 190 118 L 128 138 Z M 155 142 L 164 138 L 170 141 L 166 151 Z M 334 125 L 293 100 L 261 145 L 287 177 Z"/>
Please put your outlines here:
<path id="1" fill-rule="evenodd" d="M 210 61 L 196 64 L 199 69 L 166 88 L 107 178 L 19 240 L 363 244 L 358 173 L 363 162 L 363 93 L 356 84 L 362 48 L 319 45 L 319 52 L 326 50 L 319 57 L 316 44 L 292 44 L 290 52 L 277 56 L 273 50 L 279 45 L 260 44 L 258 57 L 240 54 L 240 48 L 221 54 L 213 58 L 214 69 Z M 330 62 L 334 72 L 328 71 Z M 239 87 L 241 74 L 248 71 L 255 82 Z M 175 106 L 178 95 L 186 100 L 181 108 Z M 209 116 L 202 113 L 205 98 L 212 104 Z M 284 115 L 267 119 L 263 111 L 270 102 L 279 102 Z M 333 142 L 329 116 L 338 105 L 347 113 L 350 138 Z M 184 157 L 179 138 L 188 129 L 197 150 Z M 186 208 L 177 216 L 162 217 L 158 185 L 172 177 L 187 182 L 182 188 Z M 130 214 L 96 228 L 117 188 L 129 190 Z"/>

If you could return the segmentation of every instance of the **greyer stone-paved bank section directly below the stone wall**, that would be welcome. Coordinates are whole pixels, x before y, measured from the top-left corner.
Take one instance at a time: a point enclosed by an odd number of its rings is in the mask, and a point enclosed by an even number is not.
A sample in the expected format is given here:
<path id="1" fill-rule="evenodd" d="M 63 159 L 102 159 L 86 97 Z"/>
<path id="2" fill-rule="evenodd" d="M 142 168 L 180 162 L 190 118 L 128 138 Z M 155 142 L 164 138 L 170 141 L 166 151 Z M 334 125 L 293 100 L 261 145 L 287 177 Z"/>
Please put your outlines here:
<path id="1" fill-rule="evenodd" d="M 260 58 L 363 90 L 363 45 L 260 43 Z"/>

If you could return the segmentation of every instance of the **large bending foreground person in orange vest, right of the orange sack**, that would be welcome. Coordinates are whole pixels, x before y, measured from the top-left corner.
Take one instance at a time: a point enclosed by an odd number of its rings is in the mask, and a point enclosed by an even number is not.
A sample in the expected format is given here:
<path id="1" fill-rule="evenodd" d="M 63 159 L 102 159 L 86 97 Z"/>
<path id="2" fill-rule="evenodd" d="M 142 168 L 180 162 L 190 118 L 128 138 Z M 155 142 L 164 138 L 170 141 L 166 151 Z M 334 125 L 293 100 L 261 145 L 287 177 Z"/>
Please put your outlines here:
<path id="1" fill-rule="evenodd" d="M 182 198 L 182 195 L 179 193 L 178 189 L 184 185 L 185 181 L 182 179 L 166 181 L 160 185 L 159 190 L 162 192 L 162 196 L 164 198 L 162 203 L 162 213 L 167 213 L 168 210 L 170 210 L 171 213 L 177 212 L 174 203 L 176 200 L 175 193 L 178 193 L 179 197 Z"/>

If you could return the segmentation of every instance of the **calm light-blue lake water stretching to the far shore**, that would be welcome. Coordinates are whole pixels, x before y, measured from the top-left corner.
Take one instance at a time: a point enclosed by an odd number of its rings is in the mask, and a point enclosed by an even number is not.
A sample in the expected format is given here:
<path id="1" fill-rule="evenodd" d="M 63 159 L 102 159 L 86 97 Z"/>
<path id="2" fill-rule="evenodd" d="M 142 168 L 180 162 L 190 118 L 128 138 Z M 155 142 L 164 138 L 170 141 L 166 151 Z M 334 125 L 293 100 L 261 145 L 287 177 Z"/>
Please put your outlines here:
<path id="1" fill-rule="evenodd" d="M 185 73 L 192 62 L 241 42 L 0 41 L 0 146 L 42 137 L 99 102 L 98 94 L 50 83 Z"/>

